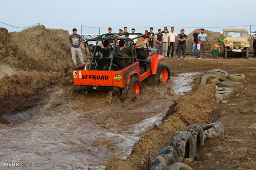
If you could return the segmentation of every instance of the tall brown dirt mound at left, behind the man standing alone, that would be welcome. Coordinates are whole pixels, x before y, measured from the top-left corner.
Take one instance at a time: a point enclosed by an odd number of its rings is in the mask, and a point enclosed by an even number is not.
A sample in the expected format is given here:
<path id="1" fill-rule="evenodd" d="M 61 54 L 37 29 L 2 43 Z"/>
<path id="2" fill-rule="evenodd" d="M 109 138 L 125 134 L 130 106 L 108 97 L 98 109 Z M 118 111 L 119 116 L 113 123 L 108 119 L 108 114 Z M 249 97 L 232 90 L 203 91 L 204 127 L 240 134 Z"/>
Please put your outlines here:
<path id="1" fill-rule="evenodd" d="M 72 67 L 69 33 L 43 25 L 7 33 L 0 28 L 0 63 L 24 71 L 62 71 Z"/>

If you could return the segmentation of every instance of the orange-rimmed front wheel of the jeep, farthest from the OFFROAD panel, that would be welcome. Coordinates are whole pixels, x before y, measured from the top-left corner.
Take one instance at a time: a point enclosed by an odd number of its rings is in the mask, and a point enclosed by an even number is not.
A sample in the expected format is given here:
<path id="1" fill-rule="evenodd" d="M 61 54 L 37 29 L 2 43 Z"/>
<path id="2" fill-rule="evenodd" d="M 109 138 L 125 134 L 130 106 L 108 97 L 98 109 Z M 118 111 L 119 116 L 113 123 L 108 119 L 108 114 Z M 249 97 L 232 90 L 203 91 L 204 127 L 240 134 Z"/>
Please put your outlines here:
<path id="1" fill-rule="evenodd" d="M 162 82 L 166 82 L 170 78 L 170 69 L 165 64 L 159 64 L 156 70 L 155 82 L 160 85 Z"/>

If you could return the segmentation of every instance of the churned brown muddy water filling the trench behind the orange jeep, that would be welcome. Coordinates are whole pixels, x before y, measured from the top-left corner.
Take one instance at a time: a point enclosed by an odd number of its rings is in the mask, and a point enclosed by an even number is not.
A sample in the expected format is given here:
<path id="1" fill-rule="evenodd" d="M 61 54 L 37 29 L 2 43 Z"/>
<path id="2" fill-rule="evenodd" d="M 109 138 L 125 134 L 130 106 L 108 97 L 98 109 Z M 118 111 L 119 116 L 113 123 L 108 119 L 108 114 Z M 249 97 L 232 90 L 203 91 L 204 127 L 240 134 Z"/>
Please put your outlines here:
<path id="1" fill-rule="evenodd" d="M 3 162 L 19 162 L 46 163 L 38 169 L 98 170 L 110 156 L 125 159 L 145 131 L 161 123 L 178 97 L 171 90 L 190 91 L 197 74 L 179 74 L 155 87 L 142 83 L 142 93 L 129 103 L 115 94 L 109 102 L 107 93 L 47 89 L 34 108 L 5 115 L 11 122 L 26 120 L 0 125 L 0 167 Z"/>

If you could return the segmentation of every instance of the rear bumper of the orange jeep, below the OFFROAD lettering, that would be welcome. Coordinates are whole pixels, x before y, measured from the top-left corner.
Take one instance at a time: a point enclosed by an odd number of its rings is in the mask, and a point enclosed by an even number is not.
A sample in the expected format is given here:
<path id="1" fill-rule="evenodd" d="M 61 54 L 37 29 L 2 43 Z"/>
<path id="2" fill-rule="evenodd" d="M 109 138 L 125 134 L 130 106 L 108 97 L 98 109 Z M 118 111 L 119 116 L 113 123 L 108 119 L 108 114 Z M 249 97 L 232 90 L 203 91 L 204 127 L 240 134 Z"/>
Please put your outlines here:
<path id="1" fill-rule="evenodd" d="M 120 87 L 114 86 L 92 86 L 92 85 L 74 85 L 74 90 L 88 90 L 88 91 L 112 91 L 112 92 L 119 92 Z"/>

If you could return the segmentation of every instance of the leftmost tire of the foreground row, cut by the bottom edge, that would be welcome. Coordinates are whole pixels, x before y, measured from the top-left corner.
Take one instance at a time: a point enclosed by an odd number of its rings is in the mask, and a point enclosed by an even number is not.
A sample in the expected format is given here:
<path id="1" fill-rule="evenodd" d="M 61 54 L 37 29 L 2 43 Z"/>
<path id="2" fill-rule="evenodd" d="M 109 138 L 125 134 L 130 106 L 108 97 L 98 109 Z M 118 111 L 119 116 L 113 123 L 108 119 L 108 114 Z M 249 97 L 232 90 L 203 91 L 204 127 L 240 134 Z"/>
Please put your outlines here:
<path id="1" fill-rule="evenodd" d="M 175 159 L 169 154 L 153 156 L 147 164 L 148 170 L 166 170 L 166 168 L 175 163 Z"/>

